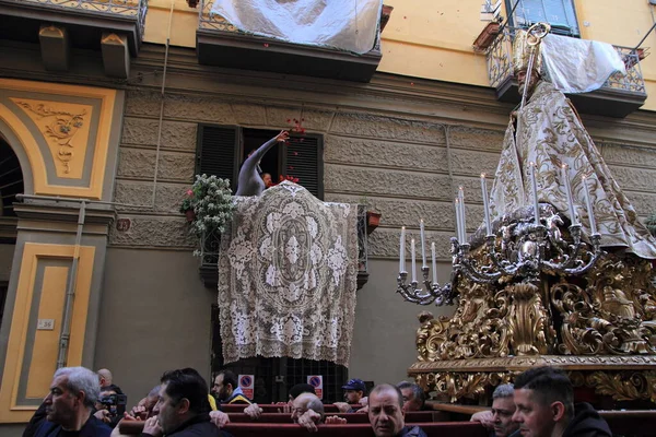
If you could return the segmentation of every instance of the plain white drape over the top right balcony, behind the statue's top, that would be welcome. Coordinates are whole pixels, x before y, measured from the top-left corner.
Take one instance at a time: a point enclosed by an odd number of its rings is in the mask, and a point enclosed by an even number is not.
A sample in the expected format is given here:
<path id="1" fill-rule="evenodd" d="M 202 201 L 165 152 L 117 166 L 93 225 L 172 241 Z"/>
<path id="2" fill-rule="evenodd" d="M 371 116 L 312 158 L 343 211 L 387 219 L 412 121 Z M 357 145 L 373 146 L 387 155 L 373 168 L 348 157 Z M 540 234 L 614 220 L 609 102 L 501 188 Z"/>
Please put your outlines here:
<path id="1" fill-rule="evenodd" d="M 588 93 L 616 72 L 626 74 L 622 58 L 608 43 L 549 34 L 542 40 L 549 80 L 563 93 Z"/>

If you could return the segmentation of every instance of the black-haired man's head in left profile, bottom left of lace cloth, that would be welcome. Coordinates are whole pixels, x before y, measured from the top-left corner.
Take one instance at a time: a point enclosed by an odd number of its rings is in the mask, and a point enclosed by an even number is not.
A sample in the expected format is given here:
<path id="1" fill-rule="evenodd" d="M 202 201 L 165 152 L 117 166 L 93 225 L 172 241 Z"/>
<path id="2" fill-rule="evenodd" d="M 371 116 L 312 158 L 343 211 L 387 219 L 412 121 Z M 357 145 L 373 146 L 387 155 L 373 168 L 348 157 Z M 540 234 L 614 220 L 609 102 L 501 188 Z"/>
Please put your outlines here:
<path id="1" fill-rule="evenodd" d="M 169 370 L 162 375 L 162 386 L 156 404 L 157 422 L 164 434 L 169 434 L 181 423 L 208 413 L 208 383 L 192 368 Z"/>

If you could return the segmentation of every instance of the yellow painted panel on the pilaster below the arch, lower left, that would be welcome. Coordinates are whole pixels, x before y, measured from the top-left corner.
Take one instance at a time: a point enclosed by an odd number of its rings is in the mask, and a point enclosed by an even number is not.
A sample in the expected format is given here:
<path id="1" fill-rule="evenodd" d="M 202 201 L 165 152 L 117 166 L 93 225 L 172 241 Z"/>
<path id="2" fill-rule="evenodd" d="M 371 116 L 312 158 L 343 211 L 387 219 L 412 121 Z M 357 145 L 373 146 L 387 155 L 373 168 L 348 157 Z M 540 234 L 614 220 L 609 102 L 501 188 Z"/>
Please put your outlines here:
<path id="1" fill-rule="evenodd" d="M 36 410 L 36 406 L 19 402 L 21 378 L 27 380 L 26 399 L 36 405 L 48 393 L 52 374 L 57 368 L 59 334 L 62 327 L 67 276 L 70 268 L 46 265 L 40 283 L 36 281 L 37 270 L 44 260 L 71 261 L 74 253 L 74 246 L 25 244 L 14 310 L 11 316 L 7 356 L 3 357 L 0 423 L 27 422 Z M 67 366 L 82 364 L 95 248 L 80 247 L 79 257 Z M 38 302 L 33 302 L 36 287 L 40 287 L 40 298 Z M 34 342 L 30 343 L 26 341 L 27 332 L 30 327 L 34 327 L 37 322 L 30 317 L 33 306 L 37 307 L 37 319 L 52 319 L 55 324 L 52 330 L 37 330 Z M 27 361 L 28 352 L 32 353 L 31 361 Z M 27 368 L 27 375 L 24 375 L 24 368 Z"/>

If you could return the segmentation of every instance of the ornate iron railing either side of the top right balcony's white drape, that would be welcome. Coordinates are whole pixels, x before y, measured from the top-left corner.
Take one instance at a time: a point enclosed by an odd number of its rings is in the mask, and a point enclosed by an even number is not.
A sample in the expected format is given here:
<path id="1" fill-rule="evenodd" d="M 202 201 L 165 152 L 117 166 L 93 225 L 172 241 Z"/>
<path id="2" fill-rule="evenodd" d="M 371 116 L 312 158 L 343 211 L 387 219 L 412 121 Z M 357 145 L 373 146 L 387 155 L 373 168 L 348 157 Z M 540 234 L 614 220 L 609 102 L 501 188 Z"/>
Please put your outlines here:
<path id="1" fill-rule="evenodd" d="M 640 67 L 640 52 L 631 47 L 613 46 L 620 54 L 626 75 L 616 73 L 608 79 L 601 88 L 623 90 L 633 93 L 645 93 L 645 81 Z M 499 34 L 485 52 L 488 79 L 490 85 L 497 87 L 513 75 L 512 35 L 506 28 Z"/>

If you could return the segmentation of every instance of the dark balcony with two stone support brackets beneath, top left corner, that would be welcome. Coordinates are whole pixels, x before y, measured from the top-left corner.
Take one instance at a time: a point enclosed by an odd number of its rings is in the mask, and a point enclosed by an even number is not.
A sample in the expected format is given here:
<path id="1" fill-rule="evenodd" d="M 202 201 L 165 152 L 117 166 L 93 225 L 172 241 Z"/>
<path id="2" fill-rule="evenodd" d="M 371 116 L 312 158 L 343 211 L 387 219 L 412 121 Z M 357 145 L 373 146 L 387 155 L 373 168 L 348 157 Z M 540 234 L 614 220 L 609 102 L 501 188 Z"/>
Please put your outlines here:
<path id="1" fill-rule="evenodd" d="M 148 0 L 0 0 L 0 39 L 39 44 L 47 70 L 67 71 L 70 50 L 102 50 L 108 75 L 127 78 Z"/>

